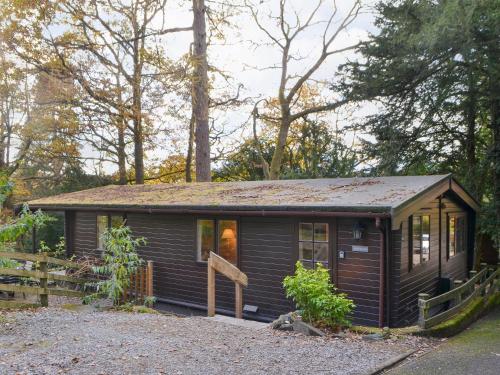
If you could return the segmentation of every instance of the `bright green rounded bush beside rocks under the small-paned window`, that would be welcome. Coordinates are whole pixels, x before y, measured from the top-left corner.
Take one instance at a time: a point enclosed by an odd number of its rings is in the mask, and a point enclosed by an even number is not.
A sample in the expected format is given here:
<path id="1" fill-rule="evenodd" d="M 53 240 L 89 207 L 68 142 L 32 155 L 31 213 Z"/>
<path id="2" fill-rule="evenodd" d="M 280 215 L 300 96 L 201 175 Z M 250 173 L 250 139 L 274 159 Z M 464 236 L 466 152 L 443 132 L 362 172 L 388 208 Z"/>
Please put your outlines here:
<path id="1" fill-rule="evenodd" d="M 304 321 L 333 328 L 349 325 L 348 316 L 355 305 L 345 294 L 336 292 L 328 270 L 320 263 L 315 270 L 304 268 L 301 262 L 295 267 L 295 275 L 285 277 L 283 286 L 286 296 L 302 310 Z"/>

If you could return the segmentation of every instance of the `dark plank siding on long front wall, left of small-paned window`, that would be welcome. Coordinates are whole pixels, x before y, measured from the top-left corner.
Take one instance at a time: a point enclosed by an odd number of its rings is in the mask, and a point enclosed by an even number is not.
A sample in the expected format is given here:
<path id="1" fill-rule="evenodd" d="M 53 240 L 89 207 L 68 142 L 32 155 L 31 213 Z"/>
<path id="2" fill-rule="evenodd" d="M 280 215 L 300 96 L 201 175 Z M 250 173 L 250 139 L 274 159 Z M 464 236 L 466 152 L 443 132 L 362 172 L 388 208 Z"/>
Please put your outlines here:
<path id="1" fill-rule="evenodd" d="M 95 254 L 95 214 L 78 213 L 75 251 Z M 139 254 L 154 262 L 154 294 L 167 300 L 206 306 L 207 266 L 196 262 L 196 218 L 189 215 L 128 214 L 135 236 L 147 244 Z M 90 232 L 92 228 L 92 233 Z M 259 316 L 273 318 L 288 312 L 283 278 L 293 273 L 295 262 L 294 222 L 286 219 L 243 218 L 240 220 L 239 266 L 247 273 L 246 304 L 257 305 Z M 216 306 L 234 311 L 234 284 L 217 275 Z"/>

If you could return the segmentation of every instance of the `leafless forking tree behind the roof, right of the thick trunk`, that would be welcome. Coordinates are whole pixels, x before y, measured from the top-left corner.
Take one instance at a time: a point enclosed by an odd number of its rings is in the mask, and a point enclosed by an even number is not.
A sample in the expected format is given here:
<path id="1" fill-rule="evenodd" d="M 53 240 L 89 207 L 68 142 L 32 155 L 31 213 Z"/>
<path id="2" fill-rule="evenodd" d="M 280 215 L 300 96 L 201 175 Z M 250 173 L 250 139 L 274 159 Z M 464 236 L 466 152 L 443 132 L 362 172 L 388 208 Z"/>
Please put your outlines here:
<path id="1" fill-rule="evenodd" d="M 339 99 L 309 108 L 300 108 L 299 110 L 296 110 L 294 106 L 303 88 L 314 80 L 314 74 L 330 56 L 352 50 L 357 46 L 356 44 L 343 48 L 334 48 L 335 41 L 341 32 L 346 30 L 356 19 L 361 4 L 360 1 L 354 1 L 347 13 L 340 15 L 337 4 L 333 1 L 329 16 L 326 20 L 319 20 L 320 9 L 324 7 L 325 3 L 323 0 L 318 0 L 314 7 L 311 8 L 312 10 L 305 16 L 299 14 L 299 12 L 290 6 L 289 1 L 280 0 L 277 16 L 270 14 L 264 16 L 264 19 L 259 11 L 262 3 L 260 1 L 260 4 L 257 5 L 247 1 L 246 5 L 257 27 L 264 33 L 269 43 L 279 49 L 281 54 L 280 63 L 277 67 L 274 67 L 280 71 L 280 81 L 277 90 L 279 115 L 273 118 L 278 123 L 279 131 L 269 167 L 267 163 L 263 163 L 263 168 L 269 169 L 264 171 L 264 175 L 269 176 L 269 179 L 279 179 L 284 149 L 291 124 L 300 118 L 305 118 L 307 115 L 332 111 L 347 103 L 346 100 Z M 266 20 L 272 21 L 271 25 L 266 23 Z M 302 73 L 291 72 L 291 61 L 304 60 L 300 56 L 293 54 L 292 45 L 306 31 L 313 27 L 317 29 L 320 26 L 323 29 L 318 56 L 312 59 L 310 65 L 306 66 Z M 256 113 L 258 113 L 257 108 L 254 109 L 254 114 Z"/>

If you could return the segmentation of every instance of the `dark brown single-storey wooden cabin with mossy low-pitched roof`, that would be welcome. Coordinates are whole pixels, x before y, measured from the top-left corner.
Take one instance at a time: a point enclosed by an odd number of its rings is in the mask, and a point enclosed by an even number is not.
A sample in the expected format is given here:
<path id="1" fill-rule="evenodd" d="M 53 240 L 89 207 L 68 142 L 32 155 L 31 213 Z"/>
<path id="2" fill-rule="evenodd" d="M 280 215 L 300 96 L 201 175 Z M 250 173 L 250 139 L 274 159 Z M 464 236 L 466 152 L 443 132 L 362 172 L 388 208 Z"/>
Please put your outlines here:
<path id="1" fill-rule="evenodd" d="M 478 210 L 450 175 L 106 186 L 29 204 L 64 212 L 68 254 L 99 256 L 125 220 L 159 301 L 206 309 L 213 251 L 248 276 L 244 316 L 271 320 L 294 308 L 282 281 L 301 260 L 330 269 L 354 323 L 393 327 L 416 322 L 419 293 L 467 277 Z M 216 285 L 216 311 L 234 314 L 233 282 Z"/>

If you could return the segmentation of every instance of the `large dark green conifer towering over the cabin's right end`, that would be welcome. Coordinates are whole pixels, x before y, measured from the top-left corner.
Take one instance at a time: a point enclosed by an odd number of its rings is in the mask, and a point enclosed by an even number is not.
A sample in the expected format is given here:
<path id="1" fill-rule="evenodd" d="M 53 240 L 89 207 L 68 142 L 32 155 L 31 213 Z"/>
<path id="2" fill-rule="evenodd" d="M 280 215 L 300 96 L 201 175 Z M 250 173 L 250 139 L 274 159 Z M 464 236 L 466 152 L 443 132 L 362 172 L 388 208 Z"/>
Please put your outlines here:
<path id="1" fill-rule="evenodd" d="M 380 32 L 343 82 L 346 98 L 380 105 L 361 126 L 376 138 L 365 142 L 375 170 L 454 172 L 494 202 L 500 243 L 498 1 L 382 1 L 377 12 Z"/>

